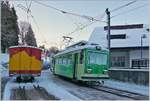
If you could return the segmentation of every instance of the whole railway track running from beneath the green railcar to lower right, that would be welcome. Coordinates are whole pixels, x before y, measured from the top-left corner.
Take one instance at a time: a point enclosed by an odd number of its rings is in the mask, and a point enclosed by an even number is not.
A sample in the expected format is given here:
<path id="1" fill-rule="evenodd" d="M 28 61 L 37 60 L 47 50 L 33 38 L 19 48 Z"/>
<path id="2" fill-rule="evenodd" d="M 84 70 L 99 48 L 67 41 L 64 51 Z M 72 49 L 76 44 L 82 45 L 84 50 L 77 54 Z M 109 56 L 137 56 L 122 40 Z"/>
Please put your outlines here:
<path id="1" fill-rule="evenodd" d="M 77 84 L 78 86 L 86 86 L 88 88 L 92 88 L 92 89 L 95 89 L 98 91 L 110 93 L 110 94 L 117 95 L 117 96 L 124 97 L 124 98 L 130 98 L 133 100 L 149 100 L 149 96 L 142 95 L 139 93 L 130 92 L 130 91 L 126 91 L 126 90 L 121 90 L 121 89 L 116 89 L 116 88 L 104 86 L 104 85 L 99 84 L 99 83 L 96 83 L 96 85 L 95 85 L 95 83 L 83 83 L 83 82 L 79 83 L 79 82 L 68 80 L 66 78 L 61 78 L 61 79 L 65 80 L 65 81 L 69 81 L 70 83 L 73 83 L 73 84 Z"/>

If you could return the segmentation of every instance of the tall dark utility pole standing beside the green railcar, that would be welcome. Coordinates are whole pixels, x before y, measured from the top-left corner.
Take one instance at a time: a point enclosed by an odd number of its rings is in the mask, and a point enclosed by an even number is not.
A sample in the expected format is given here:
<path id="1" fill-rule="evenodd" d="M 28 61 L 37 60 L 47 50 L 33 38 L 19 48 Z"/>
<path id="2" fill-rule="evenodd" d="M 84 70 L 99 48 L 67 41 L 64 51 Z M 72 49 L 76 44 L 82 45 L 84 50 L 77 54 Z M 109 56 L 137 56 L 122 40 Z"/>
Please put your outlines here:
<path id="1" fill-rule="evenodd" d="M 110 11 L 108 10 L 108 8 L 106 9 L 106 14 L 107 14 L 107 40 L 108 40 L 108 50 L 109 50 L 109 68 L 111 67 L 111 54 L 110 54 Z"/>

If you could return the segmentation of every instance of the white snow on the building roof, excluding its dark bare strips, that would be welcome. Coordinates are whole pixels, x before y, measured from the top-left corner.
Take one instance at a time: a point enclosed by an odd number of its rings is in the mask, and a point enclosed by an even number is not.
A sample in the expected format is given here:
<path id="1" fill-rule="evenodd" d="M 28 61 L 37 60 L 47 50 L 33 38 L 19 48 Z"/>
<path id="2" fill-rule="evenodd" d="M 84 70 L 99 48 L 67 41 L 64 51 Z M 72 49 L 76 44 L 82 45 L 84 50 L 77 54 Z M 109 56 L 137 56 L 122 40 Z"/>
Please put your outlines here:
<path id="1" fill-rule="evenodd" d="M 141 37 L 143 34 L 146 38 L 142 38 L 143 46 L 149 46 L 149 32 L 147 26 L 143 28 L 131 28 L 131 29 L 113 29 L 111 35 L 125 34 L 125 39 L 111 39 L 111 48 L 124 48 L 124 47 L 140 47 Z M 89 42 L 98 43 L 103 47 L 107 47 L 107 30 L 104 27 L 96 27 L 92 32 Z"/>

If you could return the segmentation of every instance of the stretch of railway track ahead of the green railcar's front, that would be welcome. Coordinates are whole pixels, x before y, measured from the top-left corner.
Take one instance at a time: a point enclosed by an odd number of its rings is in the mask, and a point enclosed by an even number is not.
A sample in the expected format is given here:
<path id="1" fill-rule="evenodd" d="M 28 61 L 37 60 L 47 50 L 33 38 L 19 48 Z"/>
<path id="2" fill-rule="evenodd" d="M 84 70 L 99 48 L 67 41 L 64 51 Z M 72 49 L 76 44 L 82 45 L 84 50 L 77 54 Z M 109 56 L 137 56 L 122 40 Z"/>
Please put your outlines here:
<path id="1" fill-rule="evenodd" d="M 127 98 L 131 98 L 133 100 L 149 100 L 149 96 L 146 95 L 142 95 L 142 94 L 138 94 L 138 93 L 134 93 L 134 92 L 130 92 L 130 91 L 125 91 L 125 90 L 120 90 L 120 89 L 115 89 L 115 88 L 111 88 L 108 86 L 89 86 L 88 87 L 92 88 L 92 89 L 96 89 L 98 91 L 104 91 L 110 94 L 115 94 L 121 97 L 127 97 Z"/>

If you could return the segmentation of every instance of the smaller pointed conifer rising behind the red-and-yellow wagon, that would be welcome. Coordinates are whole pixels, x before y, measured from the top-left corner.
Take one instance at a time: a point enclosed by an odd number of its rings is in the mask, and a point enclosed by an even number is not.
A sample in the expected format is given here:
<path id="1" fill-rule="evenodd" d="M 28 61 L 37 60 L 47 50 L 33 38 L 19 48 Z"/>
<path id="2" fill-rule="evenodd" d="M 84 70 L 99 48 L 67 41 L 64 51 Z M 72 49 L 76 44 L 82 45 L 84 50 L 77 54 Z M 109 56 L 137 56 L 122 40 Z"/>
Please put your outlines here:
<path id="1" fill-rule="evenodd" d="M 29 25 L 27 34 L 25 35 L 25 42 L 29 46 L 36 46 L 37 47 L 36 39 L 35 39 L 31 25 Z"/>

